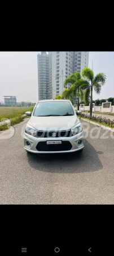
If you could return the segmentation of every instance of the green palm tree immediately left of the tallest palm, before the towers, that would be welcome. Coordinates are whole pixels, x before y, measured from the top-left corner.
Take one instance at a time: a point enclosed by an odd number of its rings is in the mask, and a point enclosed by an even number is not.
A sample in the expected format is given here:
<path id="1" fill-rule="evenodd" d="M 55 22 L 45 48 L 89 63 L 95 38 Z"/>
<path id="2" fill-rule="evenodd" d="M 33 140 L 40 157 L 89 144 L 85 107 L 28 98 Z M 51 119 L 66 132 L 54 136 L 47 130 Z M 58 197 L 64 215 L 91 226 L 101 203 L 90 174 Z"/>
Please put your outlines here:
<path id="1" fill-rule="evenodd" d="M 83 98 L 83 92 L 82 92 L 82 89 L 81 89 L 81 80 L 83 81 L 83 79 L 81 79 L 80 72 L 76 72 L 76 73 L 72 74 L 71 76 L 69 76 L 64 81 L 64 87 L 67 84 L 72 84 L 71 88 L 69 88 L 69 90 L 71 90 L 71 95 L 72 96 L 76 96 L 76 93 L 78 93 L 77 110 L 79 110 L 79 98 L 80 98 L 80 96 L 81 96 L 81 99 Z M 79 81 L 79 83 L 78 83 L 78 81 Z"/>

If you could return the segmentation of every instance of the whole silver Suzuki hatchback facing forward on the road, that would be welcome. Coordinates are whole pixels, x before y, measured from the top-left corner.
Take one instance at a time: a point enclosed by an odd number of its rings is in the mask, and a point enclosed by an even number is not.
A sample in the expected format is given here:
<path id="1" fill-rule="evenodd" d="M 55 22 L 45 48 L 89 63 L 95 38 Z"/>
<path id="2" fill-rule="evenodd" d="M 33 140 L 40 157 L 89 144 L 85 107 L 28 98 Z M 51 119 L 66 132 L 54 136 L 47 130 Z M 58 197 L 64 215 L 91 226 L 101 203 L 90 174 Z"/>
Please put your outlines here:
<path id="1" fill-rule="evenodd" d="M 81 111 L 78 110 L 77 114 Z M 84 148 L 84 131 L 69 100 L 42 100 L 34 106 L 24 132 L 24 148 L 36 154 L 67 153 Z"/>

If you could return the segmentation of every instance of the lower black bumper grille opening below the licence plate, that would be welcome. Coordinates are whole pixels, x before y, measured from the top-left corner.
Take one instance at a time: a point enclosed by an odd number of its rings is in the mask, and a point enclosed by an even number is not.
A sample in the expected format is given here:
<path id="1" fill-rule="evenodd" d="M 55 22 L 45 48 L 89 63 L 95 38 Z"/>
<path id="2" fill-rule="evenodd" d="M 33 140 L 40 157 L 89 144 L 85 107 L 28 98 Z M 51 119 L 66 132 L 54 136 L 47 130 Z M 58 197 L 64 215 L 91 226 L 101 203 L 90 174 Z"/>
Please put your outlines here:
<path id="1" fill-rule="evenodd" d="M 45 141 L 38 142 L 36 149 L 38 151 L 67 151 L 71 150 L 72 144 L 69 141 L 62 141 L 62 144 L 46 144 Z"/>

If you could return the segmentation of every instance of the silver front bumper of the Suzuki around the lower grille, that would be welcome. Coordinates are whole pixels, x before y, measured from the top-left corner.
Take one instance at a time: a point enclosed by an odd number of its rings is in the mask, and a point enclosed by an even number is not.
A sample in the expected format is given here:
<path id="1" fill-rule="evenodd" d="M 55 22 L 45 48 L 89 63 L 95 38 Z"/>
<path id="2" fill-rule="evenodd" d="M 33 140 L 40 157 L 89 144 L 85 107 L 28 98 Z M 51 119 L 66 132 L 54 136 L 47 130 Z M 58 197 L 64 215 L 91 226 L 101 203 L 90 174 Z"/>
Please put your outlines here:
<path id="1" fill-rule="evenodd" d="M 82 140 L 82 144 L 78 145 L 78 140 Z M 27 146 L 26 142 L 30 142 L 30 147 Z M 38 151 L 37 150 L 37 144 L 39 142 L 46 142 L 46 141 L 64 141 L 64 142 L 70 142 L 72 145 L 71 150 L 62 150 L 62 151 Z M 32 135 L 29 135 L 27 133 L 24 133 L 24 149 L 28 152 L 32 152 L 34 154 L 56 154 L 56 153 L 70 153 L 82 150 L 84 148 L 84 131 L 81 133 L 78 133 L 72 137 L 59 137 L 59 138 L 37 138 L 33 137 Z"/>

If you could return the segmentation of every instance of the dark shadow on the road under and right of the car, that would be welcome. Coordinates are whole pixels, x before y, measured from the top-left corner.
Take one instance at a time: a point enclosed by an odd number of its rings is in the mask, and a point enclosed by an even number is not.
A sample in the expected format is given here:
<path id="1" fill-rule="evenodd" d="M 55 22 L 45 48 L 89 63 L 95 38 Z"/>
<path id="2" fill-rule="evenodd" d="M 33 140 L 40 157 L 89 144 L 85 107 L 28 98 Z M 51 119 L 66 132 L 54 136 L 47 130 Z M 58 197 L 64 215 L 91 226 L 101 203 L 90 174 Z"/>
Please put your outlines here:
<path id="1" fill-rule="evenodd" d="M 27 154 L 27 157 L 29 165 L 38 171 L 72 174 L 101 170 L 103 166 L 99 154 L 103 152 L 95 151 L 95 148 L 85 140 L 83 151 L 49 155 Z"/>

